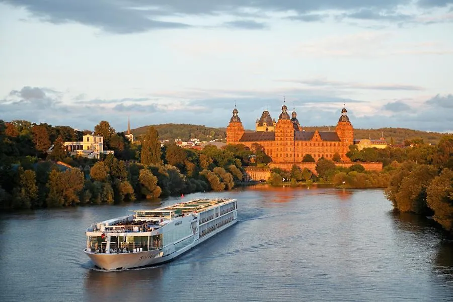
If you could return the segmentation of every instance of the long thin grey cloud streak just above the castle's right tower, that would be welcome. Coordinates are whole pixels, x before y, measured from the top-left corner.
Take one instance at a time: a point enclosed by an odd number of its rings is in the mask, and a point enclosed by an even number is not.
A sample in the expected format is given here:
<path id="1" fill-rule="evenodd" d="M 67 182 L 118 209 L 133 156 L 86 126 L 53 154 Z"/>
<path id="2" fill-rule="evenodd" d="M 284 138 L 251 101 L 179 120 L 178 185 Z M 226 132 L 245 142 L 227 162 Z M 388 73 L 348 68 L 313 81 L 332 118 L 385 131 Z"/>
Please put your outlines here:
<path id="1" fill-rule="evenodd" d="M 422 87 L 402 84 L 362 84 L 354 82 L 338 82 L 321 79 L 313 80 L 281 80 L 282 82 L 298 83 L 312 87 L 331 87 L 334 89 L 363 89 L 363 90 L 407 90 L 419 91 Z"/>

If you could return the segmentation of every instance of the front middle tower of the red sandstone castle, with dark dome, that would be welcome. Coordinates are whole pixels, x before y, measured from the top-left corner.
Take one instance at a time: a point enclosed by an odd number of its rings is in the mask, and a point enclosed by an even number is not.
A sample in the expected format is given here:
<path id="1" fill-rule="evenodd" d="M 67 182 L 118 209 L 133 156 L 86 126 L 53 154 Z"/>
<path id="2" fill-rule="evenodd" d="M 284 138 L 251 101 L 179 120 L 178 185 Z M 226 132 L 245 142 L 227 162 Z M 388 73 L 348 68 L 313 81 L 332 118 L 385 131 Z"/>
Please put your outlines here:
<path id="1" fill-rule="evenodd" d="M 275 126 L 276 148 L 273 160 L 279 163 L 294 162 L 294 125 L 287 111 L 288 107 L 283 104 Z"/>

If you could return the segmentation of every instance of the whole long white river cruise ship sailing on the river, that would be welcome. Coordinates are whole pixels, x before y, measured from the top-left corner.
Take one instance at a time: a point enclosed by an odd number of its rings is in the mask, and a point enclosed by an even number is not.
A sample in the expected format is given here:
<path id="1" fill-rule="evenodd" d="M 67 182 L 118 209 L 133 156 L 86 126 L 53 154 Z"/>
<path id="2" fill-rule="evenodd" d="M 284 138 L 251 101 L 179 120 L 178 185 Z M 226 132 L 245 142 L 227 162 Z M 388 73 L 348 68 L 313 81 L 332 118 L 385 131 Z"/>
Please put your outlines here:
<path id="1" fill-rule="evenodd" d="M 167 262 L 238 220 L 236 199 L 196 199 L 94 223 L 85 253 L 104 270 Z"/>

